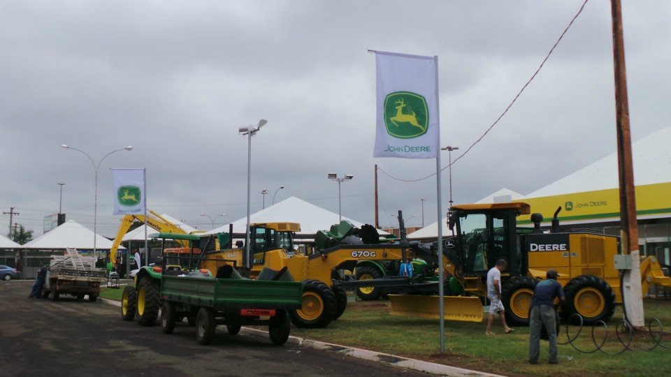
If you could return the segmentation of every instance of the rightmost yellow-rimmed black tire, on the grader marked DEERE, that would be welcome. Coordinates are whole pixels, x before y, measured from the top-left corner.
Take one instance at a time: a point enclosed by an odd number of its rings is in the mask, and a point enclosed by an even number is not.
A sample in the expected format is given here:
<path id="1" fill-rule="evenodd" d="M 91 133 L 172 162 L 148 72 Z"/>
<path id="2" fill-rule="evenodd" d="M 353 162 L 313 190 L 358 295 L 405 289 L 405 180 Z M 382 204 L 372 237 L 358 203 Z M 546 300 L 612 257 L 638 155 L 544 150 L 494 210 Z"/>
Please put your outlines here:
<path id="1" fill-rule="evenodd" d="M 561 310 L 564 319 L 579 314 L 585 325 L 593 325 L 600 320 L 607 322 L 615 313 L 613 288 L 598 276 L 582 275 L 571 279 L 564 287 L 564 294 L 566 303 Z"/>

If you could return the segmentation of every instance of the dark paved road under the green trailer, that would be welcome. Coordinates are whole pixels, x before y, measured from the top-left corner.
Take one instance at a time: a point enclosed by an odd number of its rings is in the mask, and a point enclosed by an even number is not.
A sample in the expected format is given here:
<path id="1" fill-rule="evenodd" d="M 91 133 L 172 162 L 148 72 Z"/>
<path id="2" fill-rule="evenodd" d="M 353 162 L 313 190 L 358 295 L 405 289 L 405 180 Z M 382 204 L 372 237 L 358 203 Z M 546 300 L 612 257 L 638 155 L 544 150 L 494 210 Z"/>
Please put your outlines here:
<path id="1" fill-rule="evenodd" d="M 29 299 L 31 285 L 0 281 L 0 376 L 427 376 L 220 329 L 201 346 L 193 327 L 165 335 L 100 300 Z"/>

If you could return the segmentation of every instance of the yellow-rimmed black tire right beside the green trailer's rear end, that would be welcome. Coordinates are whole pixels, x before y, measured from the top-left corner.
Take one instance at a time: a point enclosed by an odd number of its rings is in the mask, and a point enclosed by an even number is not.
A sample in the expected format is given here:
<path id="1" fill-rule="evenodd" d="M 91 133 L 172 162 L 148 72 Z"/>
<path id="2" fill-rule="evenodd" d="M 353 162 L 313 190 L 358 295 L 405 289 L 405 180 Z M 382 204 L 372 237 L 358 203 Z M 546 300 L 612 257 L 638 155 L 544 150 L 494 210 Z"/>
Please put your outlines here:
<path id="1" fill-rule="evenodd" d="M 312 329 L 326 327 L 335 316 L 337 302 L 333 290 L 322 281 L 303 281 L 303 305 L 289 311 L 296 327 Z"/>

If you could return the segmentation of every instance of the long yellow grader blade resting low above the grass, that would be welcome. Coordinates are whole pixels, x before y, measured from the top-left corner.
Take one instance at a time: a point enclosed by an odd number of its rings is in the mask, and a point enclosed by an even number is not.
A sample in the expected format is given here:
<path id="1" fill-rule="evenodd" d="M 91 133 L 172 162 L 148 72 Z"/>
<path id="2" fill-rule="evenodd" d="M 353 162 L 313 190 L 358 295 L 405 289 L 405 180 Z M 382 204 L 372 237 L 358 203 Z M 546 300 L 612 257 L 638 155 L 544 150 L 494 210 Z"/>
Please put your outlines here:
<path id="1" fill-rule="evenodd" d="M 440 300 L 431 295 L 389 295 L 391 315 L 440 318 Z M 445 296 L 443 313 L 446 320 L 482 322 L 484 308 L 478 297 Z"/>

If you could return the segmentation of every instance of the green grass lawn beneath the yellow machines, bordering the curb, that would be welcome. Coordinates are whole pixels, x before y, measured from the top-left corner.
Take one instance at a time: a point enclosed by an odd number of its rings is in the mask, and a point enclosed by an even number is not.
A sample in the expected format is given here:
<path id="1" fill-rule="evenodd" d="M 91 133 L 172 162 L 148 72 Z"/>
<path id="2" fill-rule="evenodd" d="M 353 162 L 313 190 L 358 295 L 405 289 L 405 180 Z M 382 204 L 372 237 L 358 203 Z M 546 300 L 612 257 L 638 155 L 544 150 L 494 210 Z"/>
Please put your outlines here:
<path id="1" fill-rule="evenodd" d="M 122 289 L 103 288 L 101 297 L 121 300 Z M 665 326 L 662 345 L 671 347 L 671 300 L 644 300 L 646 323 L 657 318 Z M 375 350 L 392 355 L 412 357 L 440 364 L 486 371 L 506 376 L 665 376 L 670 372 L 671 349 L 655 345 L 650 337 L 635 335 L 630 348 L 624 349 L 618 341 L 615 328 L 623 318 L 621 306 L 605 327 L 585 327 L 575 339 L 576 350 L 570 344 L 559 346 L 559 365 L 547 364 L 547 341 L 541 341 L 539 364 L 528 364 L 528 327 L 516 327 L 515 332 L 504 334 L 496 318 L 496 334 L 484 334 L 486 317 L 482 323 L 445 321 L 445 353 L 440 353 L 440 325 L 438 320 L 391 316 L 388 301 L 348 302 L 342 317 L 325 329 L 298 329 L 291 335 L 305 339 L 326 341 L 343 346 Z M 578 327 L 569 327 L 572 338 Z M 660 331 L 658 325 L 653 327 Z M 605 353 L 598 350 L 592 339 Z M 559 343 L 566 343 L 566 326 L 562 324 Z M 624 340 L 624 337 L 623 337 Z M 593 352 L 592 352 L 593 351 Z"/>

